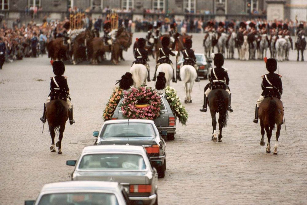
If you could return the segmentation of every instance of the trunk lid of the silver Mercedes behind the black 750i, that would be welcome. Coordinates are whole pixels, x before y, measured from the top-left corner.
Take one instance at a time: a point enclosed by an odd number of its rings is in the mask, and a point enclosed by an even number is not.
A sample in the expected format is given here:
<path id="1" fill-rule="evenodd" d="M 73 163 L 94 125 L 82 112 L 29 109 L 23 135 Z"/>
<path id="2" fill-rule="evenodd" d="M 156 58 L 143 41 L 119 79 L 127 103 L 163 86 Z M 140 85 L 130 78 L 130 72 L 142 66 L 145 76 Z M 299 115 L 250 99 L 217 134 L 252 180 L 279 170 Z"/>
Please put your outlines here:
<path id="1" fill-rule="evenodd" d="M 75 171 L 74 180 L 114 181 L 129 184 L 148 184 L 148 171 Z"/>

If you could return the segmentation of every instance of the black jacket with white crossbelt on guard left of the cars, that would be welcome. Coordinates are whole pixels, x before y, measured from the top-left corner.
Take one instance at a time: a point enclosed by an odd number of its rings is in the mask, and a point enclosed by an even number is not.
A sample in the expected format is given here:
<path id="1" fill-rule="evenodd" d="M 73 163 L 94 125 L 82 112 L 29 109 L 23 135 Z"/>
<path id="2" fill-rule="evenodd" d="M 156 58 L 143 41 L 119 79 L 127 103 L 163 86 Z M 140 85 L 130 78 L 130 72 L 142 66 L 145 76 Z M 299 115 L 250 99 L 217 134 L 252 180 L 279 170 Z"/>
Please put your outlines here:
<path id="1" fill-rule="evenodd" d="M 69 91 L 67 84 L 67 77 L 64 76 L 55 76 L 50 79 L 50 100 L 67 100 L 67 91 Z"/>

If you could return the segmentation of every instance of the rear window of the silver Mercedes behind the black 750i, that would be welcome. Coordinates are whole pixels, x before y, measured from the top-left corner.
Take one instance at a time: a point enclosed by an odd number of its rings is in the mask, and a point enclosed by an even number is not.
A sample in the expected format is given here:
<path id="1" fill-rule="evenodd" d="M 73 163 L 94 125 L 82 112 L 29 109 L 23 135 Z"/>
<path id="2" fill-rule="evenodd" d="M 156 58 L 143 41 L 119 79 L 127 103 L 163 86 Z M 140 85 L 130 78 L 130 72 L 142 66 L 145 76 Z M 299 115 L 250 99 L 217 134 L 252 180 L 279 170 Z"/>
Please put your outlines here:
<path id="1" fill-rule="evenodd" d="M 145 170 L 142 155 L 137 154 L 89 154 L 84 155 L 80 170 Z"/>

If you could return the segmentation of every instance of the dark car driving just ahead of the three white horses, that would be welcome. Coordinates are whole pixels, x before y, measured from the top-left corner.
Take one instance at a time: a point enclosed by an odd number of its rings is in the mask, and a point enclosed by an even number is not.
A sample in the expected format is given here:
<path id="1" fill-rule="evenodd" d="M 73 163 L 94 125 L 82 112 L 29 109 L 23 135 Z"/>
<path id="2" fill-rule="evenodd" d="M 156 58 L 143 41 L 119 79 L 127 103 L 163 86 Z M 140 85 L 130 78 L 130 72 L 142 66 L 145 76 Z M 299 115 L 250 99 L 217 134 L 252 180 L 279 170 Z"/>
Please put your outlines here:
<path id="1" fill-rule="evenodd" d="M 208 79 L 209 76 L 209 69 L 211 68 L 212 61 L 207 58 L 207 56 L 204 55 L 204 53 L 195 53 L 196 57 L 196 64 L 198 66 L 198 76 L 204 77 L 204 79 Z M 177 63 L 177 78 L 179 77 L 179 69 L 181 68 L 183 64 L 183 55 L 181 56 L 181 59 Z"/>

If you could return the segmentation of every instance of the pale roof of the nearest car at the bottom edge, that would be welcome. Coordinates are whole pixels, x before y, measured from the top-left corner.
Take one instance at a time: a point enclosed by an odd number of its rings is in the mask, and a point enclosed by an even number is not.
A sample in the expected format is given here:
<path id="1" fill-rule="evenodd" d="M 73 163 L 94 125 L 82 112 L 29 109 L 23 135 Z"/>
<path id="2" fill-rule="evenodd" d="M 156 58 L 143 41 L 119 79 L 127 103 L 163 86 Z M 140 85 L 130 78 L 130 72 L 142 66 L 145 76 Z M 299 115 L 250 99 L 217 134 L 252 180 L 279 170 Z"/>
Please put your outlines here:
<path id="1" fill-rule="evenodd" d="M 118 182 L 103 182 L 103 181 L 67 181 L 45 184 L 41 192 L 58 193 L 70 190 L 91 191 L 100 190 L 108 192 L 116 192 L 119 189 Z"/>

